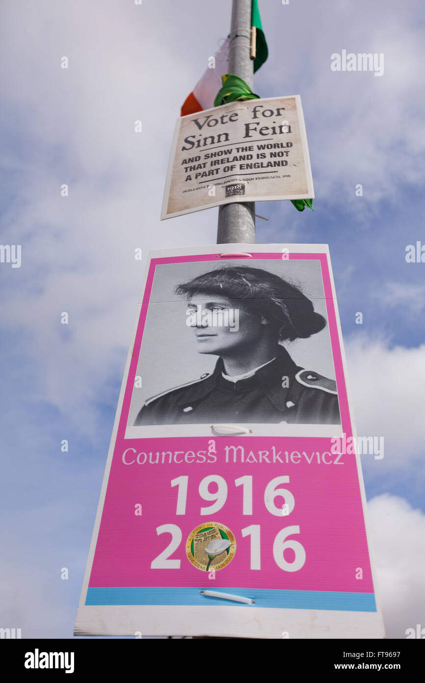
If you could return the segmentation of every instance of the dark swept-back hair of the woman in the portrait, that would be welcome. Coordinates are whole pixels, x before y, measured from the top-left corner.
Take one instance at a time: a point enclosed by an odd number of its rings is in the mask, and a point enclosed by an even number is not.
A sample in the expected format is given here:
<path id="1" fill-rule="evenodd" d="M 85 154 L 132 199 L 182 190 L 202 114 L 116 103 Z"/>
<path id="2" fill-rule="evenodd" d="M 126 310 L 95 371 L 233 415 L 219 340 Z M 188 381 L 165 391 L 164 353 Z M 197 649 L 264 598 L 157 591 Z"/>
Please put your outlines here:
<path id="1" fill-rule="evenodd" d="M 314 312 L 301 290 L 262 268 L 222 266 L 177 285 L 175 293 L 187 298 L 197 294 L 229 298 L 237 303 L 235 307 L 274 323 L 282 342 L 306 339 L 326 326 L 325 318 Z"/>

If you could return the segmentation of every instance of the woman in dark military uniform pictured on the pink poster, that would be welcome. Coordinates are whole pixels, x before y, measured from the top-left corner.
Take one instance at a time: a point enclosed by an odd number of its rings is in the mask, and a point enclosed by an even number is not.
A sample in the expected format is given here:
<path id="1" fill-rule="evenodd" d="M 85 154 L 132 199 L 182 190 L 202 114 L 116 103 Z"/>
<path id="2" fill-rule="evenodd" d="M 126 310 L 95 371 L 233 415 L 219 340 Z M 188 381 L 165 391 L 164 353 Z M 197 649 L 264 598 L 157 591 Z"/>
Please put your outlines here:
<path id="1" fill-rule="evenodd" d="M 214 372 L 145 402 L 135 425 L 339 424 L 336 383 L 304 370 L 282 342 L 320 332 L 325 318 L 288 281 L 250 266 L 222 266 L 180 284 L 197 350 Z"/>

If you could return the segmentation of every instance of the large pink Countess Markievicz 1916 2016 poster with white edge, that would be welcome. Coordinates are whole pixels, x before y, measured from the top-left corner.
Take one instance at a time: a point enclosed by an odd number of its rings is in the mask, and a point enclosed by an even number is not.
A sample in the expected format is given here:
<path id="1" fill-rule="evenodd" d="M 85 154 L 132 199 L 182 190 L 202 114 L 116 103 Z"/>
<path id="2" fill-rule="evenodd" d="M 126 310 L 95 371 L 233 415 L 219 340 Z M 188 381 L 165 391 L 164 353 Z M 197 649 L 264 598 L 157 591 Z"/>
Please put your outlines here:
<path id="1" fill-rule="evenodd" d="M 383 637 L 327 246 L 150 256 L 76 635 Z"/>

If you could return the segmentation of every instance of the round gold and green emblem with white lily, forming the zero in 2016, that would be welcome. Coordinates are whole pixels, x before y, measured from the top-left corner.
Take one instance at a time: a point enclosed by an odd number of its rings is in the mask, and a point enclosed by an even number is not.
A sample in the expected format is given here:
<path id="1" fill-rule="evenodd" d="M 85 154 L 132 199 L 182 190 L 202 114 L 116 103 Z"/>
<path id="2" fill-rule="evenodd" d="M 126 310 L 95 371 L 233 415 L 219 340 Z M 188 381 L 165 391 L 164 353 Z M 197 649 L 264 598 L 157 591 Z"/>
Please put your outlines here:
<path id="1" fill-rule="evenodd" d="M 204 522 L 189 534 L 186 555 L 196 569 L 218 571 L 235 556 L 236 540 L 230 529 L 218 522 Z"/>

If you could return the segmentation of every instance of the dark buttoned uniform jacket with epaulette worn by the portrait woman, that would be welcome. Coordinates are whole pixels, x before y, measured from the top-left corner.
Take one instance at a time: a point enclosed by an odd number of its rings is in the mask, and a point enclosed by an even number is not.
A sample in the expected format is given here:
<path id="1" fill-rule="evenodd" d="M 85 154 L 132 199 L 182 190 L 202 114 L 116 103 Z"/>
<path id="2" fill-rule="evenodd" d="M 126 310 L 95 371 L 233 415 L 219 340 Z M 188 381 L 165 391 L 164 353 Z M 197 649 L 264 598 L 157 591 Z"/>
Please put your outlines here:
<path id="1" fill-rule="evenodd" d="M 336 383 L 295 365 L 283 346 L 252 377 L 230 382 L 223 371 L 220 358 L 211 374 L 153 396 L 134 425 L 340 423 Z"/>

